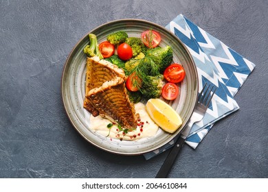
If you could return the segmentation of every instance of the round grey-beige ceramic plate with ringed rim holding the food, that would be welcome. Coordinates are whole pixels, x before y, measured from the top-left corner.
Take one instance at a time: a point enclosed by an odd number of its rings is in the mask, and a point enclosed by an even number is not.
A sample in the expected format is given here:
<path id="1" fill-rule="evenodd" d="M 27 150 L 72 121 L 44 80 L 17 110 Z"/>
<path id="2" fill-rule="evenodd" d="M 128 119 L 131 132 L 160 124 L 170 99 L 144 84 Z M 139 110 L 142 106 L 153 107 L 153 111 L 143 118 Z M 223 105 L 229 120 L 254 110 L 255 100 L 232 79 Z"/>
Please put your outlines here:
<path id="1" fill-rule="evenodd" d="M 104 149 L 107 152 L 124 155 L 137 155 L 153 151 L 170 142 L 177 134 L 183 130 L 190 119 L 197 101 L 198 78 L 197 69 L 186 47 L 168 29 L 155 23 L 139 19 L 121 19 L 100 25 L 93 29 L 92 34 L 96 34 L 98 43 L 106 40 L 107 35 L 119 30 L 124 30 L 129 36 L 139 37 L 147 29 L 153 29 L 161 34 L 160 47 L 170 45 L 173 49 L 173 61 L 183 65 L 186 71 L 186 78 L 179 84 L 180 95 L 169 104 L 174 108 L 183 124 L 174 134 L 168 134 L 159 128 L 154 137 L 140 139 L 137 141 L 112 141 L 105 136 L 92 132 L 90 128 L 90 113 L 83 108 L 85 98 L 85 71 L 86 56 L 83 49 L 89 45 L 89 37 L 86 34 L 79 40 L 74 49 L 69 54 L 62 77 L 62 97 L 67 116 L 74 128 L 89 143 Z"/>

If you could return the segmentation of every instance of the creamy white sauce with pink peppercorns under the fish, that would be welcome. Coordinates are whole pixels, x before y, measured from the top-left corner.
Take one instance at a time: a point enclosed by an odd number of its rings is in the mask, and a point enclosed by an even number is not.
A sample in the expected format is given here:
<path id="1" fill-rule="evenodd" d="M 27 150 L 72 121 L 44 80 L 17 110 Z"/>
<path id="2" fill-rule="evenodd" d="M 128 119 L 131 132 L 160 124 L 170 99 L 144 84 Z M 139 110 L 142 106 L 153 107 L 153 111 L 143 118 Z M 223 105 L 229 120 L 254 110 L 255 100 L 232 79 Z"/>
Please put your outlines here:
<path id="1" fill-rule="evenodd" d="M 109 119 L 100 117 L 100 115 L 98 117 L 93 117 L 91 115 L 90 129 L 93 130 L 93 132 L 97 132 L 103 136 L 108 136 L 112 139 L 137 140 L 155 136 L 158 130 L 158 125 L 156 125 L 155 122 L 150 119 L 148 113 L 146 112 L 144 104 L 140 102 L 135 104 L 135 110 L 137 113 L 139 113 L 140 121 L 137 122 L 138 125 L 136 130 L 128 132 L 127 134 L 123 134 L 122 131 L 120 132 L 117 125 L 113 125 L 109 132 L 107 125 L 111 123 L 111 121 L 109 121 Z"/>

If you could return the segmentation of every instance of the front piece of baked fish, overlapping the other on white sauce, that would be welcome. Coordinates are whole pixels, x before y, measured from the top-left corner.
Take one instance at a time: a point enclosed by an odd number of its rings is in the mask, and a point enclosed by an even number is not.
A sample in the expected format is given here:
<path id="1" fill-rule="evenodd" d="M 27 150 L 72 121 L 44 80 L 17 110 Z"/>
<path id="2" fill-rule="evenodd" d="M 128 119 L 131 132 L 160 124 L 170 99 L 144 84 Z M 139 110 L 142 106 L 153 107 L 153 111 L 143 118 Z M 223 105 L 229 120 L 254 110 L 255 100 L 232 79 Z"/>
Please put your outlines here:
<path id="1" fill-rule="evenodd" d="M 115 77 L 102 86 L 91 89 L 86 97 L 100 115 L 113 119 L 124 128 L 137 127 L 139 115 L 129 100 L 122 77 Z"/>

